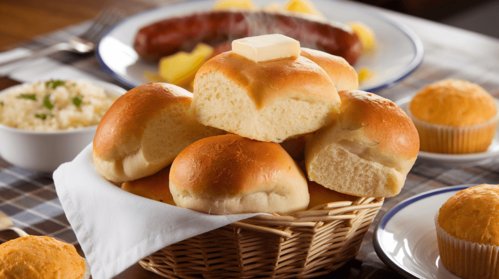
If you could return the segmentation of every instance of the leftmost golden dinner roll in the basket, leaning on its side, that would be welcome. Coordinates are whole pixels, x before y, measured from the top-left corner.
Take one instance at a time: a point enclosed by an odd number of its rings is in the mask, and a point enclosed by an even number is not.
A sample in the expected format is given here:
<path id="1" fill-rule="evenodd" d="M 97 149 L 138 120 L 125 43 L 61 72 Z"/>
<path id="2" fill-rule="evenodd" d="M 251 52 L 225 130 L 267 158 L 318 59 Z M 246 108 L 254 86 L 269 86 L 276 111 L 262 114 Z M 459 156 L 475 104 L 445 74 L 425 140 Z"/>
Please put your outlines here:
<path id="1" fill-rule="evenodd" d="M 93 141 L 93 160 L 106 179 L 122 183 L 150 176 L 198 139 L 223 131 L 200 124 L 192 93 L 150 83 L 120 96 L 104 114 Z"/>

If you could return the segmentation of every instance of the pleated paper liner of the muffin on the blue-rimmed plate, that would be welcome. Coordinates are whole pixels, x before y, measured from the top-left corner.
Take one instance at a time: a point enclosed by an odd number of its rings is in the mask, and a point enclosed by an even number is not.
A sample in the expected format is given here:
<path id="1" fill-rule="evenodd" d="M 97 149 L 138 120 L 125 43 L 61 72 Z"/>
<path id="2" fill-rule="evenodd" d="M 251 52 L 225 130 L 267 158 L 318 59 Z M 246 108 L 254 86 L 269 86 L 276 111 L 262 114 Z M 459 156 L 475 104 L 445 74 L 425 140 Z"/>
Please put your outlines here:
<path id="1" fill-rule="evenodd" d="M 478 244 L 450 235 L 440 226 L 438 215 L 437 212 L 435 227 L 440 259 L 444 267 L 464 279 L 498 279 L 499 247 Z"/>

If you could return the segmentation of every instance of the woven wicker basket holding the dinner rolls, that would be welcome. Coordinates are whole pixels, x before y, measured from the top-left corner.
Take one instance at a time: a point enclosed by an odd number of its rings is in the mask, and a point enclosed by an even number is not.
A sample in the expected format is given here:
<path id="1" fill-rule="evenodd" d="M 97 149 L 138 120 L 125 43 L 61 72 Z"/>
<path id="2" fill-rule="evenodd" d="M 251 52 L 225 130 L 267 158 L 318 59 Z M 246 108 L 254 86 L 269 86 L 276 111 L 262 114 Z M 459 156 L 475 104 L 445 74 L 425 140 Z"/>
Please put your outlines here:
<path id="1" fill-rule="evenodd" d="M 141 260 L 170 279 L 312 278 L 357 255 L 383 198 L 318 205 L 290 216 L 259 215 L 180 241 Z"/>

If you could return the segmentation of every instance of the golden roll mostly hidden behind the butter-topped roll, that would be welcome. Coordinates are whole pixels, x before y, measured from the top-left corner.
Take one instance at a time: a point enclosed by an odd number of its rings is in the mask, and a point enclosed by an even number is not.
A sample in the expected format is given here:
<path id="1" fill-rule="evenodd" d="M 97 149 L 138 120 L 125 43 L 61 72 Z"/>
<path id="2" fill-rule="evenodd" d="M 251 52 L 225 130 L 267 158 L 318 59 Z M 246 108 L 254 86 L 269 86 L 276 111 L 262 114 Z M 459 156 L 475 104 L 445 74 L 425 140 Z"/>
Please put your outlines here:
<path id="1" fill-rule="evenodd" d="M 343 57 L 305 47 L 301 48 L 300 55 L 324 69 L 336 87 L 336 91 L 359 89 L 359 76 Z"/>

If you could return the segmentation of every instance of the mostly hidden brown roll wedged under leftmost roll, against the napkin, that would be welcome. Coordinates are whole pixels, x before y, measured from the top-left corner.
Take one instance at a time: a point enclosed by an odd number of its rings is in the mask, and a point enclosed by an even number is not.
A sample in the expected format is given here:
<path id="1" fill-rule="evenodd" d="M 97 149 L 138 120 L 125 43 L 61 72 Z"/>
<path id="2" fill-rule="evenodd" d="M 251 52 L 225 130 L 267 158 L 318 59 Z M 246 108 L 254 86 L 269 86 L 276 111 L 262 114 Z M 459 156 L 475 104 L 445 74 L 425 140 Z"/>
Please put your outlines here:
<path id="1" fill-rule="evenodd" d="M 132 194 L 175 205 L 170 192 L 169 177 L 170 167 L 166 167 L 154 175 L 124 182 L 121 188 Z"/>

